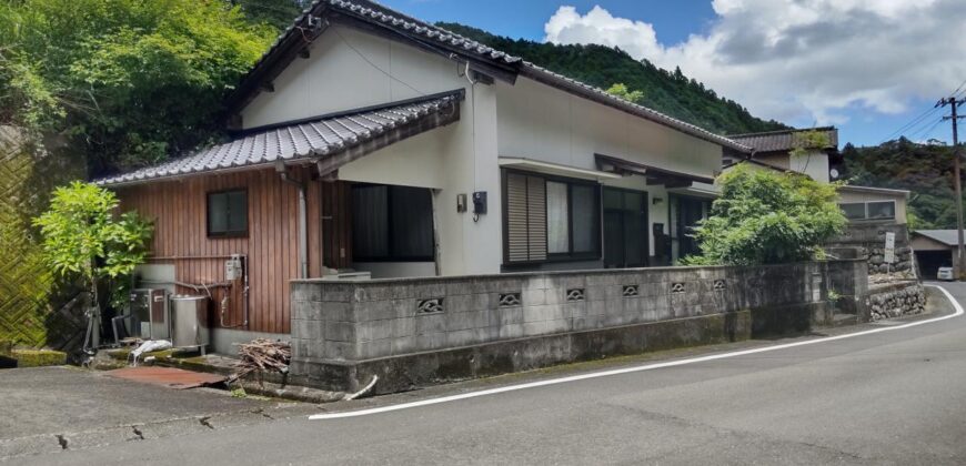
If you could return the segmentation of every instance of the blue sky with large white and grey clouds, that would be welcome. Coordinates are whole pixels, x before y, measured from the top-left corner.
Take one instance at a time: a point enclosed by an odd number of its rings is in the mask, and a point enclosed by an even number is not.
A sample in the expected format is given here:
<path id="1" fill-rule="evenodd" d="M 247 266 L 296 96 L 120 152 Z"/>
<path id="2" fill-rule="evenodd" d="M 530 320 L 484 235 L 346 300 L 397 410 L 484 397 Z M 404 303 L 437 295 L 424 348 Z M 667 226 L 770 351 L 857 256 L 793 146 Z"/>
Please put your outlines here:
<path id="1" fill-rule="evenodd" d="M 948 108 L 934 105 L 966 98 L 964 0 L 381 1 L 500 36 L 620 47 L 755 116 L 835 125 L 843 144 L 952 141 Z"/>

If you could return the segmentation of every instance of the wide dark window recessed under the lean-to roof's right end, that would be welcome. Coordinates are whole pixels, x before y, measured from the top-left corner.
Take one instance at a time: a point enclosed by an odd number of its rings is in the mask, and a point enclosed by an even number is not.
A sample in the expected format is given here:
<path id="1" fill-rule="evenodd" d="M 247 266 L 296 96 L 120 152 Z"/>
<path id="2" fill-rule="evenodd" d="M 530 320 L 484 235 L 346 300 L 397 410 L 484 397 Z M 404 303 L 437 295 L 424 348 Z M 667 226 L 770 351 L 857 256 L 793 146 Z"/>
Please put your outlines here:
<path id="1" fill-rule="evenodd" d="M 432 193 L 423 188 L 352 186 L 352 252 L 355 261 L 434 260 Z"/>

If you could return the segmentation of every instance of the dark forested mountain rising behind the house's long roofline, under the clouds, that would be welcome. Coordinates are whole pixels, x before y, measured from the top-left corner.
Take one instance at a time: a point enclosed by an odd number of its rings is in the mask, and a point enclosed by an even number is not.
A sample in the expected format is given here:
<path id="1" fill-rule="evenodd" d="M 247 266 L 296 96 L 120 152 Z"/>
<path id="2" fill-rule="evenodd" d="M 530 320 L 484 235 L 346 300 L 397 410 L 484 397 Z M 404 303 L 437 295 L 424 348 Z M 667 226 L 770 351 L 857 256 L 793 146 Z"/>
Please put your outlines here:
<path id="1" fill-rule="evenodd" d="M 453 22 L 436 26 L 601 89 L 625 84 L 630 91 L 643 93 L 637 103 L 712 132 L 737 134 L 787 128 L 753 116 L 737 102 L 688 79 L 681 69 L 671 72 L 647 60 L 637 61 L 620 49 L 510 39 Z"/>

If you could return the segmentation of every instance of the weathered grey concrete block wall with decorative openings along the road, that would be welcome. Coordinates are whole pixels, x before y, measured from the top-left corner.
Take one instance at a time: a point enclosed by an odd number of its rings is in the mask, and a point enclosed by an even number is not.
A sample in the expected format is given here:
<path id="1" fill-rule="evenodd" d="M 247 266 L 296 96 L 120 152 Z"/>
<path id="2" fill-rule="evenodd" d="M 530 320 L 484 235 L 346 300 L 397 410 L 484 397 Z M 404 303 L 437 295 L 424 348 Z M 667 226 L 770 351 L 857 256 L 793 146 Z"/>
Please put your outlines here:
<path id="1" fill-rule="evenodd" d="M 861 266 L 859 266 L 861 265 Z M 863 296 L 861 260 L 292 282 L 293 364 L 339 363 Z"/>

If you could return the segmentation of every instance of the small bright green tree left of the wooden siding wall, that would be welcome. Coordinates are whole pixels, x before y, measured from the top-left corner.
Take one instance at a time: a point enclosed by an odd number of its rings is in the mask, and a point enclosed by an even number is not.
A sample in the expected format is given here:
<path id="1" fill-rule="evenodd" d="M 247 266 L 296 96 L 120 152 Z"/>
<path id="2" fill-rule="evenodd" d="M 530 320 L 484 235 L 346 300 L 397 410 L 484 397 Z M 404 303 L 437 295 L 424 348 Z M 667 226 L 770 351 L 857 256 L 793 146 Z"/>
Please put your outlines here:
<path id="1" fill-rule="evenodd" d="M 78 276 L 90 290 L 91 324 L 100 317 L 98 288 L 144 263 L 153 226 L 135 212 L 115 215 L 113 192 L 73 182 L 53 191 L 50 209 L 34 219 L 43 237 L 43 257 L 61 276 Z M 90 332 L 90 330 L 89 330 Z"/>

